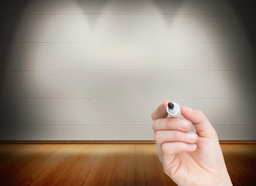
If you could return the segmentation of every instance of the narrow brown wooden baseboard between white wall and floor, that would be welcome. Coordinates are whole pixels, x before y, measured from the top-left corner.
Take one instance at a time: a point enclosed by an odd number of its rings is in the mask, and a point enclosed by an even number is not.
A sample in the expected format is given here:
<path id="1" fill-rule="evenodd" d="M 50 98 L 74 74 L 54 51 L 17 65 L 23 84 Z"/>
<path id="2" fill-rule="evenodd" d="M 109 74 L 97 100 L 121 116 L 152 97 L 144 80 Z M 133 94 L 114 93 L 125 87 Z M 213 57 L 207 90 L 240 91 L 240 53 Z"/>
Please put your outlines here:
<path id="1" fill-rule="evenodd" d="M 220 144 L 256 144 L 256 141 L 228 141 L 220 140 Z M 42 140 L 42 141 L 0 141 L 0 144 L 155 144 L 155 141 L 73 141 L 73 140 Z"/>

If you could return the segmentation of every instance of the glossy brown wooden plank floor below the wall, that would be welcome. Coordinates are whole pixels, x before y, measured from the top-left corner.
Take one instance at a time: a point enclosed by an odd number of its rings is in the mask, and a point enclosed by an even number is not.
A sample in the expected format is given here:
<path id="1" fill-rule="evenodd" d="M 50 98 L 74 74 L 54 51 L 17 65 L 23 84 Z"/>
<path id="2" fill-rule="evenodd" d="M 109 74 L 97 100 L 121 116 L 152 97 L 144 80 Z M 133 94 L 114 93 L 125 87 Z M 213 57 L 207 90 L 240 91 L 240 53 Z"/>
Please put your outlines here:
<path id="1" fill-rule="evenodd" d="M 256 145 L 221 145 L 234 186 L 256 185 Z M 0 145 L 1 186 L 175 186 L 154 144 Z"/>

